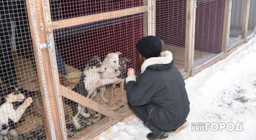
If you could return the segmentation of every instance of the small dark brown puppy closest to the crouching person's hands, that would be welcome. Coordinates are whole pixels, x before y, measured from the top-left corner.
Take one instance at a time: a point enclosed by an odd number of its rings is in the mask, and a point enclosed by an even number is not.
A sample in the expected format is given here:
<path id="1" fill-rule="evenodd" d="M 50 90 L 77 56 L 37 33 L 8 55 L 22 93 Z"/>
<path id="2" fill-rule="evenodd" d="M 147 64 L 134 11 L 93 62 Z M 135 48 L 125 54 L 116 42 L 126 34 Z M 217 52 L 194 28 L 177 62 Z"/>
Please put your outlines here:
<path id="1" fill-rule="evenodd" d="M 127 99 L 124 96 L 124 81 L 125 81 L 126 73 L 127 73 L 126 65 L 128 63 L 130 63 L 130 60 L 131 60 L 130 58 L 126 58 L 126 57 L 121 57 L 119 59 L 119 64 L 121 66 L 121 68 L 120 68 L 121 73 L 119 76 L 117 76 L 117 78 L 120 79 L 121 98 L 122 98 L 123 102 L 127 101 Z"/>

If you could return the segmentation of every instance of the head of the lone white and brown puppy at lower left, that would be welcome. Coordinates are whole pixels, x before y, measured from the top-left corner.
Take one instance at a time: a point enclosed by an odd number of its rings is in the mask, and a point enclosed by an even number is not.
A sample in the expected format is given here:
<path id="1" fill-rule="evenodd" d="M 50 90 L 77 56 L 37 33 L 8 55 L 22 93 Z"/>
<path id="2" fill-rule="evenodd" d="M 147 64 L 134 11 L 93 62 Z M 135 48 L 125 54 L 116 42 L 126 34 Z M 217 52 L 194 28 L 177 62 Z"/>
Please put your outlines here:
<path id="1" fill-rule="evenodd" d="M 1 88 L 1 96 L 5 97 L 9 102 L 21 102 L 25 100 L 25 96 L 15 86 Z"/>

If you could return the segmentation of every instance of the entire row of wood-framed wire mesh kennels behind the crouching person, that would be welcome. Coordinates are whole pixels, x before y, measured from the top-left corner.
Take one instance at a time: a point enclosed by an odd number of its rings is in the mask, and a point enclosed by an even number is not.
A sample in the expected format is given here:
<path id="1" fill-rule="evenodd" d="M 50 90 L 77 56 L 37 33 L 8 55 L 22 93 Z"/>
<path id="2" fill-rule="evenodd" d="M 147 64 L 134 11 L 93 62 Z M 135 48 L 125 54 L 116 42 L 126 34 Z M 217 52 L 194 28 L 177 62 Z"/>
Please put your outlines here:
<path id="1" fill-rule="evenodd" d="M 92 138 L 131 112 L 124 80 L 140 72 L 140 38 L 158 36 L 188 77 L 255 34 L 247 2 L 1 1 L 0 139 Z"/>

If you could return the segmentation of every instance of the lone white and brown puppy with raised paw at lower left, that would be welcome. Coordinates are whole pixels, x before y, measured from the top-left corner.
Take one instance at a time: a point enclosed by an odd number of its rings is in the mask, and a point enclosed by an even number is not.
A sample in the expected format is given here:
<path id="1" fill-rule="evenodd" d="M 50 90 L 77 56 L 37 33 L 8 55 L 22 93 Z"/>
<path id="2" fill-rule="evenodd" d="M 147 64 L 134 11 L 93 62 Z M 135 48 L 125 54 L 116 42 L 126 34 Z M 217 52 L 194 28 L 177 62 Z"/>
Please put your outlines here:
<path id="1" fill-rule="evenodd" d="M 0 101 L 0 140 L 8 140 L 8 133 L 13 136 L 14 140 L 17 140 L 18 133 L 15 130 L 14 123 L 21 119 L 22 114 L 33 100 L 31 97 L 25 99 L 25 96 L 14 86 L 1 89 L 0 94 L 2 96 Z M 24 99 L 24 103 L 15 110 L 13 102 L 22 102 Z"/>

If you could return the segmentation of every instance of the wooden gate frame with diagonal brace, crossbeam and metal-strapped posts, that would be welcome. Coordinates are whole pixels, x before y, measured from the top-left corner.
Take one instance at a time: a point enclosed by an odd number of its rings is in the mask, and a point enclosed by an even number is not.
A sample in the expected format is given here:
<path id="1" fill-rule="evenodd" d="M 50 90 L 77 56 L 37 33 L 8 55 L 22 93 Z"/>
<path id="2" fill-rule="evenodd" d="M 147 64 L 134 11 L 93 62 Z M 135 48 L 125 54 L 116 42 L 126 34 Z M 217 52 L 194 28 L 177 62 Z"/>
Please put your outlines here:
<path id="1" fill-rule="evenodd" d="M 148 9 L 150 8 L 147 5 L 147 1 L 141 1 L 140 3 L 137 3 L 137 6 L 135 7 L 131 7 L 131 8 L 125 7 L 124 9 L 117 8 L 114 11 L 110 10 L 109 12 L 104 12 L 104 13 L 92 13 L 91 15 L 90 14 L 83 15 L 83 13 L 82 14 L 80 13 L 81 15 L 78 17 L 72 17 L 72 13 L 71 13 L 72 19 L 69 19 L 70 17 L 65 17 L 65 14 L 59 15 L 59 16 L 63 16 L 61 17 L 61 19 L 56 18 L 57 12 L 55 12 L 55 10 L 63 10 L 64 12 L 67 12 L 65 11 L 65 9 L 59 9 L 59 7 L 55 8 L 55 6 L 59 6 L 59 5 L 54 2 L 60 2 L 60 1 L 52 1 L 52 3 L 50 3 L 47 0 L 41 0 L 40 2 L 34 1 L 34 0 L 27 0 L 26 2 L 27 2 L 28 14 L 29 14 L 29 23 L 31 25 L 33 24 L 33 26 L 31 27 L 31 31 L 32 31 L 33 43 L 36 44 L 36 48 L 34 49 L 35 55 L 38 55 L 36 58 L 39 59 L 39 61 L 37 62 L 39 63 L 38 65 L 40 65 L 40 69 L 38 69 L 38 72 L 41 73 L 41 83 L 43 85 L 43 91 L 44 91 L 44 92 L 42 91 L 42 93 L 45 94 L 45 99 L 46 99 L 45 104 L 47 105 L 47 109 L 48 109 L 48 115 L 45 115 L 48 117 L 47 120 L 49 120 L 48 121 L 49 124 L 48 124 L 48 127 L 46 127 L 46 131 L 51 131 L 52 139 L 68 138 L 68 134 L 67 134 L 68 129 L 66 128 L 62 97 L 65 97 L 69 100 L 72 100 L 76 103 L 86 106 L 89 109 L 96 111 L 102 114 L 103 116 L 106 116 L 100 121 L 100 123 L 95 123 L 93 128 L 92 127 L 90 127 L 89 129 L 87 128 L 82 132 L 80 132 L 80 134 L 75 136 L 71 135 L 73 136 L 71 139 L 80 139 L 82 136 L 83 136 L 82 139 L 86 139 L 89 136 L 93 137 L 93 134 L 97 132 L 99 133 L 100 130 L 102 130 L 103 128 L 109 126 L 110 124 L 115 123 L 116 121 L 120 120 L 122 117 L 127 116 L 130 113 L 127 105 L 124 106 L 122 110 L 113 111 L 113 110 L 110 110 L 108 107 L 105 107 L 93 100 L 90 100 L 82 96 L 81 94 L 74 92 L 73 90 L 68 89 L 65 86 L 60 85 L 59 83 L 60 76 L 58 73 L 58 66 L 57 66 L 58 60 L 56 60 L 56 55 L 58 59 L 58 54 L 56 54 L 56 50 L 55 50 L 55 45 L 59 44 L 59 41 L 55 40 L 55 37 L 59 38 L 62 34 L 67 33 L 68 31 L 67 32 L 63 31 L 65 30 L 65 28 L 71 30 L 69 31 L 70 34 L 76 35 L 76 33 L 79 33 L 79 31 L 77 31 L 76 29 L 72 30 L 69 27 L 71 28 L 76 28 L 78 26 L 81 27 L 83 25 L 88 25 L 88 23 L 96 24 L 96 22 L 109 20 L 113 18 L 120 20 L 120 18 L 124 16 L 127 17 L 124 20 L 128 21 L 128 18 L 133 17 L 131 15 L 135 15 L 135 17 L 139 16 L 139 18 L 145 21 L 145 22 L 142 21 L 140 23 L 142 26 L 144 26 L 142 28 L 141 35 L 146 36 L 149 33 L 149 31 L 147 30 L 147 26 L 149 25 L 148 19 L 147 19 L 148 17 L 147 12 L 148 12 Z M 69 2 L 69 4 L 72 5 L 75 3 L 76 5 L 77 2 L 82 2 L 82 1 Z M 133 3 L 133 1 L 131 1 L 131 3 Z M 89 3 L 89 4 L 93 4 L 93 3 Z M 72 31 L 75 33 L 71 33 Z"/>

